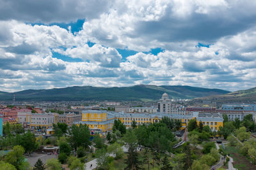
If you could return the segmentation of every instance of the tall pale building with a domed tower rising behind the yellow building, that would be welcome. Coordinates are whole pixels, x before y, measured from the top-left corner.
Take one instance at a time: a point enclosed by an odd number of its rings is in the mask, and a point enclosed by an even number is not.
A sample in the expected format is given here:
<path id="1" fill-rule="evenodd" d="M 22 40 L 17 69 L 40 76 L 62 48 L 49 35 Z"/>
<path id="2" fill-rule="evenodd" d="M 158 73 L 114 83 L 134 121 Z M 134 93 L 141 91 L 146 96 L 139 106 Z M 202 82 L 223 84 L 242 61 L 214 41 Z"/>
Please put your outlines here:
<path id="1" fill-rule="evenodd" d="M 186 110 L 183 107 L 173 106 L 172 100 L 169 99 L 168 94 L 164 93 L 161 99 L 159 99 L 158 112 L 160 113 L 172 113 L 178 115 L 186 115 Z"/>

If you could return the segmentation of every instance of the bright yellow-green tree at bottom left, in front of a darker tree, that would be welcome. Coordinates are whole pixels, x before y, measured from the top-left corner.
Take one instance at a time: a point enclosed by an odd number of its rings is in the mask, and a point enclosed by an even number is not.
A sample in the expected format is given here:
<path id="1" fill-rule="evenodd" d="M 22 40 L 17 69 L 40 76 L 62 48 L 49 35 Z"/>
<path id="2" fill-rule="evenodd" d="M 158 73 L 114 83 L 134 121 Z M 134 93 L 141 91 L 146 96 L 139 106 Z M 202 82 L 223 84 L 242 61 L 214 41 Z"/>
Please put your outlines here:
<path id="1" fill-rule="evenodd" d="M 8 152 L 5 156 L 6 162 L 12 164 L 16 167 L 16 169 L 23 169 L 28 167 L 28 162 L 25 162 L 25 158 L 23 156 L 25 150 L 22 146 L 14 146 L 11 152 Z"/>

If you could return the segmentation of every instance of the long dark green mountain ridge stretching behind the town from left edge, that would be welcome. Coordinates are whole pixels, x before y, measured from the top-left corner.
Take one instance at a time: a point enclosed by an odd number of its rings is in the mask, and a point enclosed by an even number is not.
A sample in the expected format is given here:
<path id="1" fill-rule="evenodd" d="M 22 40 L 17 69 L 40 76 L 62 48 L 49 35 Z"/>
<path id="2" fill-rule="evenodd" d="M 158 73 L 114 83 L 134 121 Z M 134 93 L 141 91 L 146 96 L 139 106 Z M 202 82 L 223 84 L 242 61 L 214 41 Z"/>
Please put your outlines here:
<path id="1" fill-rule="evenodd" d="M 221 89 L 205 89 L 190 86 L 170 85 L 134 85 L 132 87 L 66 87 L 60 89 L 22 90 L 20 92 L 0 92 L 0 101 L 154 101 L 166 92 L 170 98 L 193 99 L 212 95 L 227 94 Z"/>

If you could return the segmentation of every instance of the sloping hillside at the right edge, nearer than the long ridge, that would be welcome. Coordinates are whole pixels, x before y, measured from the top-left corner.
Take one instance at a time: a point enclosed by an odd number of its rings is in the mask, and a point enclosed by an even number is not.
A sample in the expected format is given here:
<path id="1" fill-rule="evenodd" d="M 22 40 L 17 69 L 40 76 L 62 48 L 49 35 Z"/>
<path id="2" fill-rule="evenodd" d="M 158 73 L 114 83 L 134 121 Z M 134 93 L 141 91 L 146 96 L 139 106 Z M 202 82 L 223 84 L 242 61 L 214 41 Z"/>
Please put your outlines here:
<path id="1" fill-rule="evenodd" d="M 217 101 L 221 103 L 252 103 L 256 102 L 256 87 L 247 90 L 238 90 L 218 96 L 199 97 L 195 101 Z"/>

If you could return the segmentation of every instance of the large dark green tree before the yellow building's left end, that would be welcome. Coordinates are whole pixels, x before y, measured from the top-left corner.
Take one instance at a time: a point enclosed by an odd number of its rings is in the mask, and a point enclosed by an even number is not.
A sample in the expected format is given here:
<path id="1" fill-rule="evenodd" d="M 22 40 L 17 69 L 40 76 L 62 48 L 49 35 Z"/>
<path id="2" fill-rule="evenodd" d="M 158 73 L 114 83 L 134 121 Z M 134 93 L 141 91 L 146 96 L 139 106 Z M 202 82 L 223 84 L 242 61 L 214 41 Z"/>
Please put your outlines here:
<path id="1" fill-rule="evenodd" d="M 90 131 L 87 125 L 72 125 L 70 131 L 68 131 L 71 146 L 77 150 L 79 146 L 83 146 L 84 148 L 90 145 Z"/>

